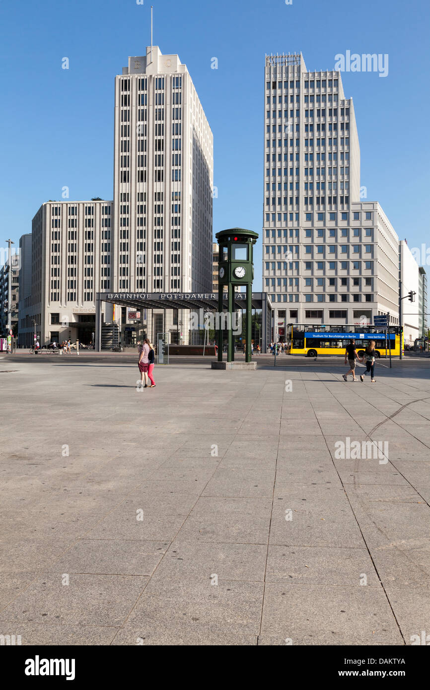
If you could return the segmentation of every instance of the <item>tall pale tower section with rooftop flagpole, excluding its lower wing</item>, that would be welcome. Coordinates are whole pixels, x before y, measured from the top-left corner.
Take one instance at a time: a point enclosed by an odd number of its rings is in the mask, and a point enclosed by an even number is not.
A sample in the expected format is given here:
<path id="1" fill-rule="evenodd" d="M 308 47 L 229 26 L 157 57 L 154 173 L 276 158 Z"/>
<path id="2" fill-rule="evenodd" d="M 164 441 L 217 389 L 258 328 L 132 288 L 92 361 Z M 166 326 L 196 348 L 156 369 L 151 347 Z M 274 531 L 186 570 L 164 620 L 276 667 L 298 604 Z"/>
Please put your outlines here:
<path id="1" fill-rule="evenodd" d="M 193 81 L 178 55 L 149 46 L 115 79 L 115 289 L 211 291 L 212 193 L 213 135 Z"/>

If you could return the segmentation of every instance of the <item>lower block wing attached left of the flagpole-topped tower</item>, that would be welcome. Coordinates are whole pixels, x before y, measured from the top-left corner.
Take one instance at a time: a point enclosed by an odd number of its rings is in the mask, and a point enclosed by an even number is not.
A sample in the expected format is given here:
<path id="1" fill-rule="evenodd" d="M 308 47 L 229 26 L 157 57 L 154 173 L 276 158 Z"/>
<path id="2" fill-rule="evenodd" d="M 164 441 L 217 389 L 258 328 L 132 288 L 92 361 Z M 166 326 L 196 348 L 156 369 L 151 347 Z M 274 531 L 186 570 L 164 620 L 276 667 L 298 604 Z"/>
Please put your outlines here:
<path id="1" fill-rule="evenodd" d="M 20 314 L 23 346 L 32 344 L 33 332 L 41 344 L 69 337 L 91 342 L 95 293 L 109 290 L 112 280 L 111 221 L 112 201 L 48 201 L 39 208 L 32 219 L 30 297 Z M 23 256 L 23 268 L 26 263 Z"/>

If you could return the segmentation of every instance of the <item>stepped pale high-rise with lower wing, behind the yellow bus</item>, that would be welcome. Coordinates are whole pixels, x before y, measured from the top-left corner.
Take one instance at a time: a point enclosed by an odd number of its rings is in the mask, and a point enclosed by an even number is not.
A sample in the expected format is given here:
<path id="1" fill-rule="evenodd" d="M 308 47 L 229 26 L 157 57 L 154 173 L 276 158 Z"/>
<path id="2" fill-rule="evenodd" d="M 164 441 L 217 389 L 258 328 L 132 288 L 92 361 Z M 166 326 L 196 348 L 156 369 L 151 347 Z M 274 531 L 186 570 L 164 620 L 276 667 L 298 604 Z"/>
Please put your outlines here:
<path id="1" fill-rule="evenodd" d="M 340 72 L 266 56 L 263 290 L 282 323 L 398 324 L 398 236 L 360 199 L 360 145 Z M 364 194 L 363 194 L 364 195 Z M 281 337 L 282 339 L 282 337 Z"/>

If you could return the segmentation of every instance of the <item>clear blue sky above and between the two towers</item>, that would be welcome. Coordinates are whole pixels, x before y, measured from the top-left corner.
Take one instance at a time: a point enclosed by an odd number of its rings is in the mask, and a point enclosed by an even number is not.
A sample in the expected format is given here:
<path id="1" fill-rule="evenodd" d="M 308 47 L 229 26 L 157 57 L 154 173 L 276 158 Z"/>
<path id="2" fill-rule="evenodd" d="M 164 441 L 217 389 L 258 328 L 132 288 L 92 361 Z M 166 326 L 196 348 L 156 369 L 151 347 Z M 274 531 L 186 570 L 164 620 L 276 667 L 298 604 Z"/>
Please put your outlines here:
<path id="1" fill-rule="evenodd" d="M 264 55 L 388 53 L 389 74 L 344 72 L 361 148 L 361 184 L 409 246 L 429 237 L 429 27 L 424 0 L 152 0 L 154 43 L 179 54 L 215 146 L 214 233 L 261 233 Z M 150 43 L 150 4 L 22 0 L 0 6 L 0 246 L 30 232 L 43 201 L 113 198 L 114 77 Z M 61 69 L 68 57 L 70 69 Z M 211 69 L 217 57 L 218 69 Z M 425 162 L 424 162 L 425 161 Z M 261 246 L 255 257 L 261 286 Z"/>

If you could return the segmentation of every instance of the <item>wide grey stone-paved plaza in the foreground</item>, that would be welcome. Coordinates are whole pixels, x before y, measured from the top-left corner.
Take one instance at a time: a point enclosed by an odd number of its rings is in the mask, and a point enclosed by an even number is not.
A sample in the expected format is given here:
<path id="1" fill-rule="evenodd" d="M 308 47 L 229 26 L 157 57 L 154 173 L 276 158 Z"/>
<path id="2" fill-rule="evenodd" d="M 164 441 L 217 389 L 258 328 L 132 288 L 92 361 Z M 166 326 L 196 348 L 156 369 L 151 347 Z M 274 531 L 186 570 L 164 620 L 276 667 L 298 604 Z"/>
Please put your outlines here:
<path id="1" fill-rule="evenodd" d="M 174 362 L 137 391 L 129 355 L 1 357 L 0 633 L 48 645 L 430 634 L 429 359 L 381 362 L 376 384 L 345 384 L 342 360 L 280 364 Z"/>

